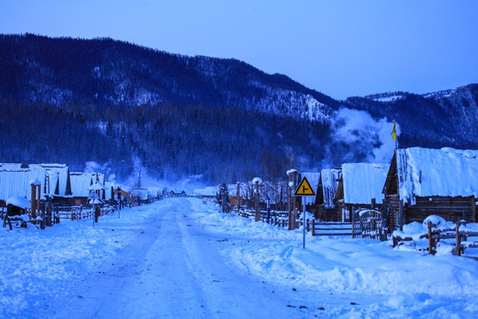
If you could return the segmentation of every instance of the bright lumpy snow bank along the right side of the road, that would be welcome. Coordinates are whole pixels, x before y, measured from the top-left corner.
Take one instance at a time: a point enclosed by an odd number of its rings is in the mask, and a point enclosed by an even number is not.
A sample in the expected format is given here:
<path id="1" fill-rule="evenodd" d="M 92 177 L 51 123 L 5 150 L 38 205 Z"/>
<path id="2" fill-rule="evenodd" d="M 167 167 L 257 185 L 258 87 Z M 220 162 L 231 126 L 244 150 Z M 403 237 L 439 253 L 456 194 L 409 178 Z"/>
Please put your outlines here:
<path id="1" fill-rule="evenodd" d="M 270 281 L 334 292 L 478 295 L 478 262 L 473 260 L 394 249 L 388 242 L 373 239 L 310 234 L 304 250 L 302 230 L 289 231 L 235 214 L 220 214 L 211 206 L 198 207 L 197 211 L 204 211 L 195 216 L 208 231 L 248 239 L 225 249 L 225 258 Z M 414 227 L 417 225 L 412 224 L 410 230 Z"/>

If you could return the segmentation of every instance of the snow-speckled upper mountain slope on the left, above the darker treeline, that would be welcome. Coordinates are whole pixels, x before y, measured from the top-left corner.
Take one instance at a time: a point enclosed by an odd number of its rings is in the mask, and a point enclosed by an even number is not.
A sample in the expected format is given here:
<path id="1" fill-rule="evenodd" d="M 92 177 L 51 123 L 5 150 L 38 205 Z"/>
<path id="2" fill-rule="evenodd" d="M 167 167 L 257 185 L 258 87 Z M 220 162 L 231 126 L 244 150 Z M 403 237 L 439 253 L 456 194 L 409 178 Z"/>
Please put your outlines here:
<path id="1" fill-rule="evenodd" d="M 111 39 L 0 35 L 0 97 L 95 105 L 211 105 L 323 119 L 337 102 L 235 59 L 186 57 Z"/>

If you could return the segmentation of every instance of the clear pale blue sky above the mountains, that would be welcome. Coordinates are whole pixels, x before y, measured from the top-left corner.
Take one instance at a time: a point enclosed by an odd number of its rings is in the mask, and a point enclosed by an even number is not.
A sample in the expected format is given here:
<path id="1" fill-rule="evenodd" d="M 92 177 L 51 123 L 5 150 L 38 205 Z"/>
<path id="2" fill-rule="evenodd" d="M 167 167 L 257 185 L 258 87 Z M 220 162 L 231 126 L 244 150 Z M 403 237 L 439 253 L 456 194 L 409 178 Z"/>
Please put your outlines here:
<path id="1" fill-rule="evenodd" d="M 335 98 L 478 82 L 478 1 L 0 0 L 0 33 L 237 58 Z"/>

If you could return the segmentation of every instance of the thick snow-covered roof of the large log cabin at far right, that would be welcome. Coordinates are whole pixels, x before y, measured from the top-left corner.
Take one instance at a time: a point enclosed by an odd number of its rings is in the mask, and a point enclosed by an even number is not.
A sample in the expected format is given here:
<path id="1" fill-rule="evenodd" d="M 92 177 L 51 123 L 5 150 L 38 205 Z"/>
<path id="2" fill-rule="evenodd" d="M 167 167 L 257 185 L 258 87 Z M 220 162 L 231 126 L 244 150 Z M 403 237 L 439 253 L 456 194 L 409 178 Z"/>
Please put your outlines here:
<path id="1" fill-rule="evenodd" d="M 451 196 L 478 198 L 478 151 L 412 147 L 397 150 L 400 199 Z"/>

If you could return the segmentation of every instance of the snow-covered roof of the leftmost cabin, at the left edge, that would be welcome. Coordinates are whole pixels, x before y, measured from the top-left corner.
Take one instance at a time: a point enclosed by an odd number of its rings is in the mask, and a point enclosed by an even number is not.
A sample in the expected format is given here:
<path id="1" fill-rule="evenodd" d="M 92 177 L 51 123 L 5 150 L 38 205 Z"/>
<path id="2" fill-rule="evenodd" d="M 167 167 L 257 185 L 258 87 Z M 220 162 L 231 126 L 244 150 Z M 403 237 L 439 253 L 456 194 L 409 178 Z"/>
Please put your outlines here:
<path id="1" fill-rule="evenodd" d="M 0 164 L 0 199 L 7 200 L 15 196 L 31 199 L 30 182 L 37 179 L 43 186 L 45 174 L 45 168 L 36 164 Z"/>

